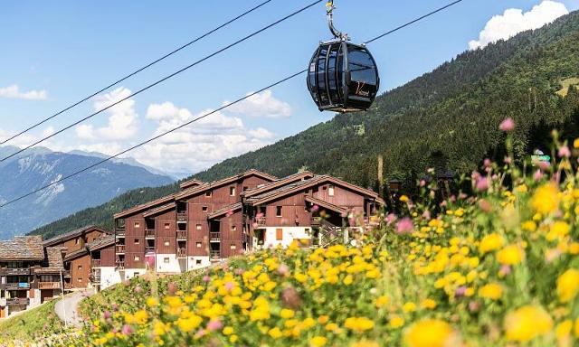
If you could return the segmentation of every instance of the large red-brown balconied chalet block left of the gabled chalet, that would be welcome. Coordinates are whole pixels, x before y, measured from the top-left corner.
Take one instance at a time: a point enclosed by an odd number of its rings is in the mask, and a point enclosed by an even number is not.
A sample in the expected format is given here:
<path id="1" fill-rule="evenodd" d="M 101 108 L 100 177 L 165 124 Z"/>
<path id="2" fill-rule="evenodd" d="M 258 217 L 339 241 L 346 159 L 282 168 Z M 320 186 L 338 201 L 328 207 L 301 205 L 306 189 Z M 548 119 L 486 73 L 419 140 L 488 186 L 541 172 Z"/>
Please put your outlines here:
<path id="1" fill-rule="evenodd" d="M 208 266 L 212 253 L 207 215 L 240 202 L 243 190 L 275 179 L 250 170 L 212 183 L 191 180 L 180 184 L 181 192 L 115 214 L 119 280 L 143 274 L 147 268 L 180 273 Z"/>

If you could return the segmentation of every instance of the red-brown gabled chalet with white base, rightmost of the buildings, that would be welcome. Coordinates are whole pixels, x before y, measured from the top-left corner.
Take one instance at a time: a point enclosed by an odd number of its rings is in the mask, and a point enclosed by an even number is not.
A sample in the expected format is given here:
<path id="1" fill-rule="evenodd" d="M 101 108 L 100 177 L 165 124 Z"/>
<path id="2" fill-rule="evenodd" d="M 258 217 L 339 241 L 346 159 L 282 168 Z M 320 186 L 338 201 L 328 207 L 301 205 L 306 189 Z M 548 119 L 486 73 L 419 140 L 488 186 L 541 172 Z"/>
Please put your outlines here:
<path id="1" fill-rule="evenodd" d="M 246 192 L 245 229 L 254 247 L 289 246 L 294 240 L 317 244 L 344 228 L 365 225 L 384 201 L 377 193 L 329 175 L 318 175 L 272 190 Z"/>

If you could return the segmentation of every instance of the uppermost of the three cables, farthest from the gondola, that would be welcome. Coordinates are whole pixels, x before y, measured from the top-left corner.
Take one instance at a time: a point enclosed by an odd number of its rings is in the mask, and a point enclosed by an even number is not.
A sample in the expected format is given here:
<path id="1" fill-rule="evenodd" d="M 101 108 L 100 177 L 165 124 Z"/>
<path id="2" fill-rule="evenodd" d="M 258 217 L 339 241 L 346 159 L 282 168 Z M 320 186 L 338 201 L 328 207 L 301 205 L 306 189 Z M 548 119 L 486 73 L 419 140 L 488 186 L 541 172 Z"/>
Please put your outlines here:
<path id="1" fill-rule="evenodd" d="M 239 14 L 239 15 L 237 15 L 236 17 L 230 19 L 229 21 L 227 21 L 227 22 L 225 22 L 225 23 L 223 23 L 223 24 L 215 27 L 213 30 L 210 30 L 209 32 L 204 33 L 203 35 L 196 37 L 194 40 L 185 43 L 184 45 L 176 48 L 175 50 L 173 50 L 173 51 L 171 51 L 171 52 L 166 53 L 165 55 L 163 55 L 163 56 L 160 57 L 160 58 L 157 58 L 157 60 L 151 61 L 151 62 L 147 63 L 147 65 L 139 68 L 138 70 L 134 70 L 133 72 L 129 73 L 127 76 L 125 76 L 125 77 L 123 77 L 123 78 L 121 78 L 121 79 L 119 79 L 119 80 L 116 80 L 116 81 L 110 83 L 107 87 L 104 87 L 104 88 L 102 88 L 102 89 L 99 89 L 98 91 L 95 91 L 94 93 L 90 94 L 88 97 L 81 98 L 81 100 L 75 102 L 74 104 L 72 104 L 71 106 L 68 106 L 67 108 L 62 108 L 62 110 L 56 112 L 56 113 L 53 114 L 51 117 L 44 118 L 42 121 L 40 121 L 40 122 L 38 122 L 38 123 L 35 123 L 35 124 L 33 124 L 32 126 L 30 126 L 30 127 L 25 128 L 24 130 L 22 130 L 22 131 L 19 132 L 18 134 L 15 134 L 14 136 L 8 137 L 7 139 L 1 141 L 1 142 L 0 142 L 0 145 L 4 145 L 6 142 L 11 141 L 11 140 L 14 140 L 14 138 L 23 135 L 24 133 L 32 130 L 33 128 L 43 125 L 44 123 L 46 123 L 47 121 L 51 120 L 52 118 L 58 117 L 59 115 L 61 115 L 62 113 L 68 111 L 69 109 L 75 108 L 75 107 L 81 105 L 81 103 L 83 103 L 84 101 L 86 101 L 86 100 L 88 100 L 88 99 L 90 99 L 90 98 L 92 98 L 92 97 L 97 96 L 97 95 L 100 94 L 101 92 L 103 92 L 103 91 L 105 91 L 105 90 L 107 90 L 107 89 L 109 89 L 109 88 L 111 88 L 111 87 L 114 87 L 114 86 L 118 85 L 120 82 L 122 82 L 122 81 L 124 81 L 124 80 L 128 80 L 129 78 L 135 76 L 136 74 L 138 74 L 139 72 L 141 72 L 141 71 L 143 71 L 143 70 L 147 70 L 147 69 L 150 68 L 151 66 L 157 64 L 157 62 L 159 62 L 159 61 L 164 61 L 166 58 L 172 56 L 172 55 L 175 54 L 176 52 L 180 52 L 180 51 L 184 50 L 186 47 L 189 47 L 190 45 L 192 45 L 193 43 L 198 42 L 198 41 L 200 41 L 200 40 L 203 40 L 205 37 L 211 35 L 212 33 L 217 32 L 217 31 L 219 31 L 219 30 L 221 30 L 221 29 L 223 29 L 225 26 L 227 26 L 227 25 L 229 25 L 229 24 L 231 24 L 231 23 L 233 23 L 233 22 L 236 22 L 236 21 L 242 19 L 242 17 L 246 16 L 247 14 L 251 14 L 253 11 L 259 9 L 259 8 L 260 8 L 261 6 L 263 6 L 263 5 L 266 5 L 266 4 L 270 3 L 271 1 L 273 1 L 273 0 L 266 0 L 266 1 L 262 2 L 262 3 L 259 4 L 259 5 L 256 5 L 256 6 L 252 7 L 251 9 L 245 11 L 244 13 Z"/>

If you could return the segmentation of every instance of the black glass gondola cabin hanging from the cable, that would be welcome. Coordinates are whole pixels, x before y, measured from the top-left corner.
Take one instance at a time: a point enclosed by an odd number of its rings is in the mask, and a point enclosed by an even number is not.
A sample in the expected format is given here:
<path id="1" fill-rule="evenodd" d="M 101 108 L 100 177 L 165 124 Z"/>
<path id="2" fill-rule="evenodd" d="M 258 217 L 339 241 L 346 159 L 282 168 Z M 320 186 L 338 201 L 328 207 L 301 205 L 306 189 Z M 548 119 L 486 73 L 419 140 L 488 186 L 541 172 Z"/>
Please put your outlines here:
<path id="1" fill-rule="evenodd" d="M 379 87 L 375 60 L 363 45 L 322 42 L 309 62 L 308 89 L 320 111 L 364 111 Z"/>

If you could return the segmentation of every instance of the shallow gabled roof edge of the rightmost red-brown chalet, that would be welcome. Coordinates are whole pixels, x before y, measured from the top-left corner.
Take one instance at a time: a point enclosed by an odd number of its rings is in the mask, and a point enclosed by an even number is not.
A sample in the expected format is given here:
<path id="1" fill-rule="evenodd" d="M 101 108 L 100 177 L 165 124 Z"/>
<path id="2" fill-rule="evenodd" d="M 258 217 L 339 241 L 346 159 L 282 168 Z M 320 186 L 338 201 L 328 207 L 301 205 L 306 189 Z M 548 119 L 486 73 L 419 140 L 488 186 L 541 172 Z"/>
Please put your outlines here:
<path id="1" fill-rule="evenodd" d="M 337 179 L 336 177 L 332 177 L 329 175 L 317 175 L 309 180 L 283 185 L 278 189 L 272 190 L 271 192 L 264 192 L 252 196 L 251 198 L 247 199 L 247 202 L 252 203 L 253 205 L 257 205 L 264 202 L 270 202 L 271 200 L 279 199 L 293 192 L 299 192 L 301 190 L 307 189 L 320 183 L 334 183 L 337 186 L 349 189 L 354 192 L 359 192 L 360 194 L 363 194 L 368 198 L 374 199 L 376 202 L 384 204 L 384 200 L 382 200 L 382 198 L 380 198 L 377 193 L 362 188 L 360 186 L 357 186 L 356 184 L 347 183 L 345 181 L 342 181 L 340 179 Z"/>

